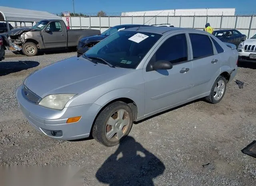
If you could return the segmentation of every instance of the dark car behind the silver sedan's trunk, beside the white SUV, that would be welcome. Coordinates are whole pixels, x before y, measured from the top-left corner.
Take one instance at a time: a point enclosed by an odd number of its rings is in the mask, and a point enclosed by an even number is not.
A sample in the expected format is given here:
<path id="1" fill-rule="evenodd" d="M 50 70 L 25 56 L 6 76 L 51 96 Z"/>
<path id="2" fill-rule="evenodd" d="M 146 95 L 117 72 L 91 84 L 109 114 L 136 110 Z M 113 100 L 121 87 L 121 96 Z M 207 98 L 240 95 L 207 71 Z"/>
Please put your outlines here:
<path id="1" fill-rule="evenodd" d="M 213 35 L 216 36 L 219 40 L 226 43 L 232 43 L 236 45 L 236 48 L 241 42 L 244 42 L 247 38 L 246 35 L 241 34 L 238 30 L 216 30 L 213 32 Z"/>

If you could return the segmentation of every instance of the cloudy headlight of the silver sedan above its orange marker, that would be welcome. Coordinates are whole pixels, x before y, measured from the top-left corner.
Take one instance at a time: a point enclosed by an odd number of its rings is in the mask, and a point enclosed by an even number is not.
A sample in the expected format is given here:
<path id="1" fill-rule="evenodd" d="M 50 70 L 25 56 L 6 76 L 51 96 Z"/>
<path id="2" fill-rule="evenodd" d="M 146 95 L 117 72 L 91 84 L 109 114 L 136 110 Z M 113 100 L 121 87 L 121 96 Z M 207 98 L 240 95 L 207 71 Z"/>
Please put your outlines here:
<path id="1" fill-rule="evenodd" d="M 50 109 L 62 110 L 68 101 L 76 94 L 52 94 L 44 97 L 39 105 Z"/>

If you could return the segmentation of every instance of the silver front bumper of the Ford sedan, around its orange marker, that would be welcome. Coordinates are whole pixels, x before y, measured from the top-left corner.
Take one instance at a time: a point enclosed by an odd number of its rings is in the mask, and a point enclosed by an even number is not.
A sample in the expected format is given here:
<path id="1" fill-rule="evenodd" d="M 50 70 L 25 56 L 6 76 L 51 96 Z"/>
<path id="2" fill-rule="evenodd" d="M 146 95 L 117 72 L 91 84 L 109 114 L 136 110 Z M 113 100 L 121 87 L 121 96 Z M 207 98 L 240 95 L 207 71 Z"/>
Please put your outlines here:
<path id="1" fill-rule="evenodd" d="M 29 123 L 44 135 L 58 140 L 75 140 L 87 138 L 94 119 L 101 107 L 86 104 L 76 107 L 65 107 L 58 111 L 34 104 L 22 95 L 22 86 L 16 91 L 16 99 L 23 115 Z M 70 117 L 81 116 L 76 123 L 66 124 Z"/>

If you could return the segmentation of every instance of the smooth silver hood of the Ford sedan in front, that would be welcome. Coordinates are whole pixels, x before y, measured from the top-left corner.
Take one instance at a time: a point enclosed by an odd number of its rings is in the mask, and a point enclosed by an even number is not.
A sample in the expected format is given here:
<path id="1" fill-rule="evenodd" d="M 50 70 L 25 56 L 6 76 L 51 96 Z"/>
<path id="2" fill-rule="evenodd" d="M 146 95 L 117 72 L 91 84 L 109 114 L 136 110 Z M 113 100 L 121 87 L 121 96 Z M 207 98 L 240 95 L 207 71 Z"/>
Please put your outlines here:
<path id="1" fill-rule="evenodd" d="M 24 85 L 40 97 L 56 93 L 84 93 L 131 71 L 71 57 L 48 65 L 29 75 Z"/>

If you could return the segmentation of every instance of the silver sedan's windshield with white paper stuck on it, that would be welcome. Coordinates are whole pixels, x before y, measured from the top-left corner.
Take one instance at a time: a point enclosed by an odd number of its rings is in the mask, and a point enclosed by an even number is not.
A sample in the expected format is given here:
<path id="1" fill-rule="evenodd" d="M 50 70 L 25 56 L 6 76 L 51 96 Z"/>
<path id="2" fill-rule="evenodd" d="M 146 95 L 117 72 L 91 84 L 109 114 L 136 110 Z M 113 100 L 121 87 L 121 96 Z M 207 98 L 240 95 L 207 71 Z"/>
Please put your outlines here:
<path id="1" fill-rule="evenodd" d="M 116 32 L 86 51 L 83 57 L 102 58 L 115 67 L 136 68 L 161 36 L 148 32 Z"/>

